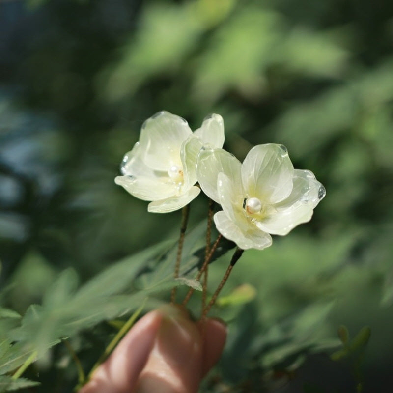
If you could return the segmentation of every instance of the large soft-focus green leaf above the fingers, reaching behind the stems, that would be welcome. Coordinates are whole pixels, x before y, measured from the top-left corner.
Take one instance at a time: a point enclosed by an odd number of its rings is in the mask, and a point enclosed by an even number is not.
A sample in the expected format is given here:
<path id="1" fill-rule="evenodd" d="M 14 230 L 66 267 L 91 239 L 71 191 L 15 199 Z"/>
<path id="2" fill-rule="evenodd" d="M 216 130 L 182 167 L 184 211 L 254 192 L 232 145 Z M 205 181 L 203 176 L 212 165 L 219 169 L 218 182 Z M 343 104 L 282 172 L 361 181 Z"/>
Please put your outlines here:
<path id="1" fill-rule="evenodd" d="M 200 262 L 197 251 L 204 247 L 205 230 L 206 223 L 203 222 L 186 234 L 180 273 L 191 271 Z M 163 242 L 125 258 L 79 290 L 76 273 L 72 269 L 65 270 L 47 289 L 42 305 L 31 305 L 22 318 L 21 326 L 12 329 L 8 337 L 19 341 L 20 345 L 26 344 L 29 351 L 36 350 L 39 359 L 60 338 L 73 336 L 103 320 L 129 313 L 149 295 L 185 284 L 200 289 L 199 282 L 193 279 L 173 279 L 177 247 L 169 245 L 173 242 Z M 144 285 L 137 288 L 135 279 L 140 272 L 149 270 L 149 266 L 154 266 L 154 269 L 143 274 L 139 284 L 142 282 Z"/>

